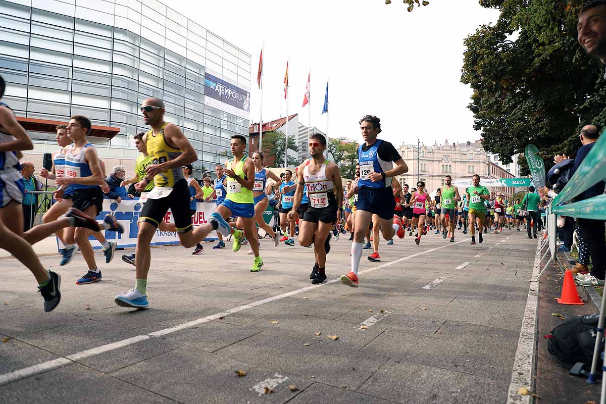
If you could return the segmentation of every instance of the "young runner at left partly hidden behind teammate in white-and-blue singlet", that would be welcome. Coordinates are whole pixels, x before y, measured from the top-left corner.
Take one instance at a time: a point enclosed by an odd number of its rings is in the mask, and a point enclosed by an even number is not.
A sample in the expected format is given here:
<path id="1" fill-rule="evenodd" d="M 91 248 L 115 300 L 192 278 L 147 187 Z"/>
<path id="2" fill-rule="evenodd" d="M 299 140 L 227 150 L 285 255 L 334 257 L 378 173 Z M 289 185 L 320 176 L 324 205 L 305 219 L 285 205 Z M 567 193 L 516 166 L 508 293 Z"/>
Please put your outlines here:
<path id="1" fill-rule="evenodd" d="M 67 136 L 67 125 L 57 125 L 56 130 L 57 136 L 55 137 L 55 139 L 57 141 L 57 144 L 61 148 L 57 151 L 53 151 L 53 166 L 51 168 L 50 173 L 45 168 L 41 168 L 40 170 L 40 176 L 42 178 L 47 178 L 53 181 L 57 179 L 57 176 L 65 175 L 65 147 L 72 144 L 72 139 Z M 105 167 L 101 160 L 99 160 L 99 164 L 101 165 L 101 171 L 104 172 Z M 107 186 L 105 182 L 101 185 Z M 67 191 L 64 191 L 62 199 L 56 200 L 56 202 L 50 207 L 50 209 L 44 214 L 44 216 L 42 216 L 42 222 L 54 222 L 59 218 L 59 216 L 65 214 L 72 207 L 72 197 L 73 190 L 71 187 L 68 186 Z M 63 229 L 57 230 L 55 234 L 59 238 L 59 240 L 61 240 L 61 242 L 65 244 L 65 238 L 63 237 Z M 101 244 L 103 255 L 105 256 L 105 263 L 112 262 L 114 253 L 116 251 L 116 242 L 108 242 L 101 231 L 95 231 L 93 233 L 93 236 L 95 236 L 95 238 Z M 59 252 L 64 255 L 65 248 L 62 248 Z"/>

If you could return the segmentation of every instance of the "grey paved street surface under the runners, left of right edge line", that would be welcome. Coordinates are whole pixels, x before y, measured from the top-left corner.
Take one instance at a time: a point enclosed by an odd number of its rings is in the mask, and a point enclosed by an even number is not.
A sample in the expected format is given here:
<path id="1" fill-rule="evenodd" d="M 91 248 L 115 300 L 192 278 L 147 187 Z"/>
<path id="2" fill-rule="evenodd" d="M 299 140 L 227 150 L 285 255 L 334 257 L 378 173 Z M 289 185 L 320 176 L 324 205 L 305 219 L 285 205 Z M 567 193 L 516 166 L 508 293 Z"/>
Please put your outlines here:
<path id="1" fill-rule="evenodd" d="M 91 285 L 75 285 L 81 256 L 68 267 L 42 256 L 62 276 L 53 313 L 32 275 L 2 259 L 0 403 L 42 391 L 51 403 L 505 403 L 537 240 L 457 237 L 382 240 L 382 262 L 364 250 L 357 289 L 310 288 L 313 251 L 268 239 L 260 273 L 248 271 L 247 246 L 155 248 L 142 311 L 113 302 L 135 278 L 119 256 Z M 351 244 L 331 245 L 334 280 Z"/>

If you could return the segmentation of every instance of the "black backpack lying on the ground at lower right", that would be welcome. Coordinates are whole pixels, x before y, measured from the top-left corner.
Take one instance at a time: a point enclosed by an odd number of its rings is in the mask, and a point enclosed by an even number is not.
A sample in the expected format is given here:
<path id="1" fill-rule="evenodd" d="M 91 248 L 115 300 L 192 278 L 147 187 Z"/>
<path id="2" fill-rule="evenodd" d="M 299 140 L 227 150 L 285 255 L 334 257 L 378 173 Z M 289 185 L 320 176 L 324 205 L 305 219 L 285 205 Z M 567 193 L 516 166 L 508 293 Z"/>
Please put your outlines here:
<path id="1" fill-rule="evenodd" d="M 581 362 L 584 363 L 584 369 L 588 370 L 591 367 L 598 318 L 598 314 L 573 317 L 551 330 L 550 339 L 547 341 L 547 349 L 561 366 L 570 369 L 576 363 Z M 602 336 L 600 352 L 603 351 L 604 336 Z M 598 368 L 601 368 L 601 366 L 598 366 Z"/>

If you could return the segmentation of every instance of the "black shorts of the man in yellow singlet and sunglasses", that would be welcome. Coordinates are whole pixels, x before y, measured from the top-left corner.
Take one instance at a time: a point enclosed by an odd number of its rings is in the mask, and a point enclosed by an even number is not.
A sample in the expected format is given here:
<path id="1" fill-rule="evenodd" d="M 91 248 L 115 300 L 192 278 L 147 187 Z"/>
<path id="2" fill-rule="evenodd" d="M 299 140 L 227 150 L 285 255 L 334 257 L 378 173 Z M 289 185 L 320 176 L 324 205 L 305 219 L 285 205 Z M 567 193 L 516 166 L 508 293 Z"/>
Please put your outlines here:
<path id="1" fill-rule="evenodd" d="M 187 233 L 193 228 L 189 207 L 189 188 L 187 187 L 187 180 L 182 178 L 176 182 L 168 196 L 160 199 L 147 199 L 141 210 L 139 222 L 147 222 L 157 228 L 170 208 L 177 232 Z"/>

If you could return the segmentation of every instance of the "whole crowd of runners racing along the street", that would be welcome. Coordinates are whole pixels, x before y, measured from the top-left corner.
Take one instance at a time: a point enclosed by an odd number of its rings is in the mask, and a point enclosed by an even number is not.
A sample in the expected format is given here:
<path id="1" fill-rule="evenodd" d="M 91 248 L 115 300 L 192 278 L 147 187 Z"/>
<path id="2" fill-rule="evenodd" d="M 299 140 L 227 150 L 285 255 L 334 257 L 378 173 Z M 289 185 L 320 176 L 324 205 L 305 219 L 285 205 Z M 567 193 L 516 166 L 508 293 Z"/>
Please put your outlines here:
<path id="1" fill-rule="evenodd" d="M 0 78 L 0 96 L 4 81 Z M 406 173 L 408 167 L 390 142 L 378 139 L 381 122 L 367 115 L 359 121 L 364 142 L 358 148 L 355 179 L 347 180 L 345 187 L 339 167 L 325 159 L 326 138 L 312 134 L 309 139 L 310 158 L 296 168 L 277 176 L 264 168 L 264 155 L 245 154 L 247 139 L 239 134 L 231 137 L 231 154 L 225 164 L 216 166 L 216 179 L 204 179 L 204 186 L 191 177 L 196 161 L 195 150 L 182 131 L 164 121 L 164 103 L 158 98 L 142 102 L 141 113 L 146 133 L 135 136 L 135 145 L 141 153 L 136 161 L 135 176 L 124 179 L 122 186 L 134 184 L 134 191 L 143 205 L 138 222 L 135 254 L 122 259 L 135 265 L 135 287 L 115 297 L 119 306 L 147 308 L 146 287 L 150 270 L 150 243 L 156 230 L 173 231 L 185 248 L 195 248 L 192 254 L 204 251 L 202 240 L 213 233 L 218 243 L 213 250 L 226 247 L 225 237 L 232 241 L 233 251 L 249 245 L 253 255 L 251 272 L 260 271 L 264 261 L 259 253 L 258 228 L 271 237 L 274 247 L 283 242 L 313 247 L 315 256 L 310 279 L 314 285 L 327 281 L 326 258 L 330 252 L 331 237 L 350 233 L 351 268 L 341 276 L 341 282 L 359 286 L 358 268 L 363 250 L 372 249 L 368 260 L 381 260 L 381 236 L 387 245 L 393 245 L 395 236 L 405 239 L 414 236 L 416 245 L 429 231 L 442 234 L 454 242 L 456 231 L 470 233 L 471 244 L 482 243 L 482 234 L 500 233 L 507 228 L 519 231 L 524 217 L 519 211 L 524 205 L 519 200 L 506 200 L 502 194 L 492 194 L 474 175 L 471 185 L 459 190 L 445 176 L 444 186 L 430 196 L 423 181 L 416 188 L 399 184 L 396 176 Z M 102 210 L 105 167 L 98 159 L 95 147 L 88 142 L 92 128 L 85 116 L 72 116 L 67 125 L 57 127 L 58 150 L 53 153 L 51 170 L 41 175 L 55 180 L 58 189 L 52 208 L 44 215 L 44 224 L 22 231 L 21 200 L 25 190 L 19 179 L 22 150 L 33 145 L 25 130 L 18 124 L 10 107 L 0 103 L 0 247 L 17 257 L 34 274 L 39 291 L 44 297 L 44 309 L 51 311 L 61 299 L 61 277 L 48 271 L 40 263 L 31 245 L 55 233 L 64 245 L 59 265 L 68 265 L 79 249 L 88 267 L 87 273 L 76 281 L 78 285 L 102 279 L 93 248 L 88 241 L 92 235 L 101 243 L 105 262 L 115 254 L 116 244 L 108 242 L 104 230 L 123 228 L 111 215 L 102 222 L 94 217 Z M 265 223 L 263 213 L 268 204 L 277 205 L 279 227 L 272 229 Z M 191 216 L 196 211 L 196 200 L 216 202 L 216 209 L 206 224 L 193 226 Z M 171 223 L 164 218 L 172 212 Z M 298 226 L 297 226 L 298 225 Z M 414 233 L 414 234 L 413 234 Z M 530 237 L 530 227 L 528 227 Z M 536 234 L 535 234 L 536 237 Z M 366 242 L 365 242 L 366 239 Z"/>

